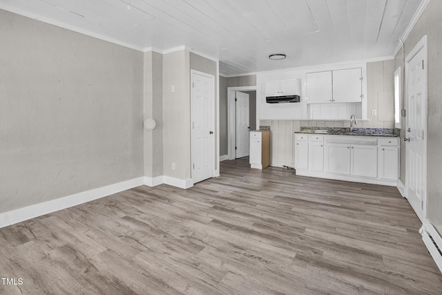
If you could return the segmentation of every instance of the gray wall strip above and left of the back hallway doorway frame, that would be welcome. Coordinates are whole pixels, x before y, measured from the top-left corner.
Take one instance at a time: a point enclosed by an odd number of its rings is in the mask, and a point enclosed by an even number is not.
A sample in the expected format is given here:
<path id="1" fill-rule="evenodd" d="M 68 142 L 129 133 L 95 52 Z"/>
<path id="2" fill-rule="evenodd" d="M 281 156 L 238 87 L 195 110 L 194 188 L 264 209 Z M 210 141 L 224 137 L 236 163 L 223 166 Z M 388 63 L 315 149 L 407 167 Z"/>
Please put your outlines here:
<path id="1" fill-rule="evenodd" d="M 227 155 L 229 153 L 227 141 L 229 131 L 227 119 L 227 88 L 237 86 L 256 86 L 256 75 L 228 78 L 220 76 L 220 155 Z"/>

